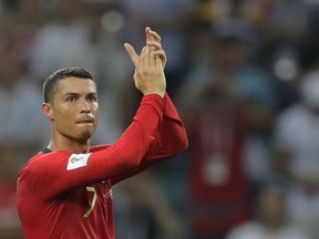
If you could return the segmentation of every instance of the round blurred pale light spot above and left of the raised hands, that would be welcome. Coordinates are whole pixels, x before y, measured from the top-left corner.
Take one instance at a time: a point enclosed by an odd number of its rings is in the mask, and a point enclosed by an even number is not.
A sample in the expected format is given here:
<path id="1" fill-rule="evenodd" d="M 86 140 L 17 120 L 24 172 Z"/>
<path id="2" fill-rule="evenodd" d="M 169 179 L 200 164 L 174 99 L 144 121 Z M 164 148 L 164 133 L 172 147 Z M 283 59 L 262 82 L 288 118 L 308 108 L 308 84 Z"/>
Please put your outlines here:
<path id="1" fill-rule="evenodd" d="M 109 32 L 117 32 L 123 28 L 123 15 L 117 11 L 105 12 L 102 17 L 102 25 Z"/>

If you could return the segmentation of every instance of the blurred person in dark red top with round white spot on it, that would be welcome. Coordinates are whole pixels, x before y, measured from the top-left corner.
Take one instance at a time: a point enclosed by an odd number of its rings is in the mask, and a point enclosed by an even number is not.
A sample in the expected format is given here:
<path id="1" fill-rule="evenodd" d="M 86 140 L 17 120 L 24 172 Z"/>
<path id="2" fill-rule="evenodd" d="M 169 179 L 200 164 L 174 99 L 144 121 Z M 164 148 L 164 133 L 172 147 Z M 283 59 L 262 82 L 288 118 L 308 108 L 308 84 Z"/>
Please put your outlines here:
<path id="1" fill-rule="evenodd" d="M 184 114 L 192 142 L 187 154 L 192 239 L 223 239 L 249 216 L 241 98 L 225 75 L 213 80 Z"/>

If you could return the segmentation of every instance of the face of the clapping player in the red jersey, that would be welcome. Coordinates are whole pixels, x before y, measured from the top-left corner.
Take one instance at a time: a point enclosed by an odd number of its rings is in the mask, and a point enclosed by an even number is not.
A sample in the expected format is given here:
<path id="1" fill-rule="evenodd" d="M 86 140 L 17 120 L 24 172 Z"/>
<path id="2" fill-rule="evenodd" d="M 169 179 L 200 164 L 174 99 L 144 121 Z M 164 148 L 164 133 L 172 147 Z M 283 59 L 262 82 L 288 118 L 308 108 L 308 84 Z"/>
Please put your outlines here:
<path id="1" fill-rule="evenodd" d="M 95 83 L 76 77 L 60 80 L 50 105 L 50 118 L 56 136 L 78 142 L 90 139 L 99 121 Z"/>

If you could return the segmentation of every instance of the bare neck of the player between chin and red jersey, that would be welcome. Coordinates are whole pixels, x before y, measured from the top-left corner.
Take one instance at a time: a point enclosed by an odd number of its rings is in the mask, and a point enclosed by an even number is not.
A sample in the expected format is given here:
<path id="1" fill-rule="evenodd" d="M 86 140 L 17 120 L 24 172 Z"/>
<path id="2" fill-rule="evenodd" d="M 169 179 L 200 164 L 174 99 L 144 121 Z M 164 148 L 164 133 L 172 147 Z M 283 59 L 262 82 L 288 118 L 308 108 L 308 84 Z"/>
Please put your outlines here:
<path id="1" fill-rule="evenodd" d="M 86 141 L 74 141 L 74 139 L 54 139 L 51 138 L 48 148 L 51 150 L 69 150 L 74 154 L 85 154 L 90 150 L 90 139 Z"/>

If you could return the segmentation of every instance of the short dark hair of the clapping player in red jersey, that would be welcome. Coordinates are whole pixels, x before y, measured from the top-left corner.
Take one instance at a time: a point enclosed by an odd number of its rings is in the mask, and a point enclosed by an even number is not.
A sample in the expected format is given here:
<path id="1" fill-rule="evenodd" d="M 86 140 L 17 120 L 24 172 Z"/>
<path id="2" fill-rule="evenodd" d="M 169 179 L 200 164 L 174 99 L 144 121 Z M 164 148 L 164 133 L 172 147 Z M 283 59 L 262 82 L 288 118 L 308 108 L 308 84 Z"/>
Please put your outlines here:
<path id="1" fill-rule="evenodd" d="M 53 72 L 43 83 L 43 97 L 45 103 L 53 103 L 56 91 L 56 83 L 66 77 L 89 79 L 93 81 L 93 76 L 83 67 L 69 66 Z"/>

